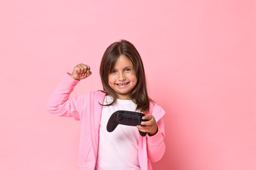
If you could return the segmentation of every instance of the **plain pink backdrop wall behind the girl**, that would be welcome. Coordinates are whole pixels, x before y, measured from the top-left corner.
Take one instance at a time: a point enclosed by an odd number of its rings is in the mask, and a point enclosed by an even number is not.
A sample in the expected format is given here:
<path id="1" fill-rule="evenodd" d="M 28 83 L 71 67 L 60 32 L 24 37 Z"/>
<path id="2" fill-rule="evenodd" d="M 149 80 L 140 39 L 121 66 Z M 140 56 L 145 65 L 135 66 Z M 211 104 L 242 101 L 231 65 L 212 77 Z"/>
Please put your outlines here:
<path id="1" fill-rule="evenodd" d="M 1 1 L 0 169 L 77 167 L 79 122 L 45 104 L 77 63 L 101 89 L 106 47 L 127 39 L 167 112 L 154 169 L 256 169 L 255 1 Z"/>

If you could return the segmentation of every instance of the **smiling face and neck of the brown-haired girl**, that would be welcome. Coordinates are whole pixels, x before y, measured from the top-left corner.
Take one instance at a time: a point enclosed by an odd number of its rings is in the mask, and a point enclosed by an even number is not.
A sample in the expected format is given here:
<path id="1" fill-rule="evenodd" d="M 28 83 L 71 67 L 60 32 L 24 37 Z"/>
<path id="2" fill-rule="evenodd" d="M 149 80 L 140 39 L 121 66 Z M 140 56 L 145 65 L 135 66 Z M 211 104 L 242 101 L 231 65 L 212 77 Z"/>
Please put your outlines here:
<path id="1" fill-rule="evenodd" d="M 136 84 L 133 63 L 126 56 L 119 56 L 108 75 L 108 85 L 117 93 L 118 99 L 130 99 L 130 92 Z"/>

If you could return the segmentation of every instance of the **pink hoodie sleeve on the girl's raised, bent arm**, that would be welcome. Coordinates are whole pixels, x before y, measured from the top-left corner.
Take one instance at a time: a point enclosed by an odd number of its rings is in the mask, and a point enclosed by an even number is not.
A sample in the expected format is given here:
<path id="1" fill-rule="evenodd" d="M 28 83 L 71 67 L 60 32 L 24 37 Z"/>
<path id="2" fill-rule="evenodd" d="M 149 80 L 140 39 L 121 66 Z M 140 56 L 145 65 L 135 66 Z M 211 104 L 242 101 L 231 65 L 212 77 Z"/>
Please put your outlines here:
<path id="1" fill-rule="evenodd" d="M 47 110 L 57 116 L 74 117 L 75 120 L 80 120 L 79 111 L 85 102 L 85 97 L 82 95 L 70 97 L 78 82 L 79 80 L 75 80 L 70 75 L 64 75 L 47 103 Z"/>

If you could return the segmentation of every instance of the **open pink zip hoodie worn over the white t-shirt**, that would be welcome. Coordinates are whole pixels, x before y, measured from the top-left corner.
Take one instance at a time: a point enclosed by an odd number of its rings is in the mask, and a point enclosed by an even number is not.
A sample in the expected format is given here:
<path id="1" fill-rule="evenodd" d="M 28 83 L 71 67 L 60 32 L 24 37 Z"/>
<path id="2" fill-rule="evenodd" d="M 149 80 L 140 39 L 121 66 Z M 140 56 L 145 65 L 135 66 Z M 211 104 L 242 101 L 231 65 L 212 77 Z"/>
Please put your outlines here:
<path id="1" fill-rule="evenodd" d="M 74 117 L 81 120 L 81 134 L 79 143 L 79 170 L 94 170 L 98 153 L 98 135 L 100 118 L 105 93 L 90 92 L 77 97 L 70 97 L 79 80 L 74 80 L 68 74 L 64 76 L 47 103 L 47 110 L 58 116 Z M 165 111 L 158 105 L 150 103 L 150 114 L 158 123 L 158 133 L 150 137 L 139 137 L 140 169 L 152 169 L 150 161 L 159 161 L 165 152 L 165 136 L 163 115 Z M 139 132 L 138 132 L 139 133 Z"/>

